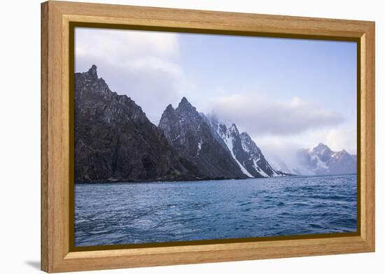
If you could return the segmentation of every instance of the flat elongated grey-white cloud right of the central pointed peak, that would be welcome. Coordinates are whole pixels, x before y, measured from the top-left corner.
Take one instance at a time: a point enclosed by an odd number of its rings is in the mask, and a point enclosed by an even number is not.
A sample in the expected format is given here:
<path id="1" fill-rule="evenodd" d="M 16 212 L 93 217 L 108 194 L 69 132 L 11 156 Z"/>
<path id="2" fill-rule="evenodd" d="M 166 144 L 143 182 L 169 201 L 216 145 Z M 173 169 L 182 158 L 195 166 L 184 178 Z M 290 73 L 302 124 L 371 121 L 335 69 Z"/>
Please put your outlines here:
<path id="1" fill-rule="evenodd" d="M 283 101 L 258 95 L 230 95 L 214 100 L 213 112 L 251 135 L 297 135 L 337 125 L 341 114 L 294 97 Z"/>

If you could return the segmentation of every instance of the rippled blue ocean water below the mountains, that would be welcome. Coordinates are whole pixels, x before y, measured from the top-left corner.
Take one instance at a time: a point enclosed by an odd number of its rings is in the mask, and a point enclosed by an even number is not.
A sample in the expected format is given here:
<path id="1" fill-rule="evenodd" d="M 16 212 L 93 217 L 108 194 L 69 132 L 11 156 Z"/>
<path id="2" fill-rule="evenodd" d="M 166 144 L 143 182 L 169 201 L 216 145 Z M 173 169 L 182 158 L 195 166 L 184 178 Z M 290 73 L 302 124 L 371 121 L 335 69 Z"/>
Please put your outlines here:
<path id="1" fill-rule="evenodd" d="M 355 174 L 76 184 L 75 246 L 355 232 Z"/>

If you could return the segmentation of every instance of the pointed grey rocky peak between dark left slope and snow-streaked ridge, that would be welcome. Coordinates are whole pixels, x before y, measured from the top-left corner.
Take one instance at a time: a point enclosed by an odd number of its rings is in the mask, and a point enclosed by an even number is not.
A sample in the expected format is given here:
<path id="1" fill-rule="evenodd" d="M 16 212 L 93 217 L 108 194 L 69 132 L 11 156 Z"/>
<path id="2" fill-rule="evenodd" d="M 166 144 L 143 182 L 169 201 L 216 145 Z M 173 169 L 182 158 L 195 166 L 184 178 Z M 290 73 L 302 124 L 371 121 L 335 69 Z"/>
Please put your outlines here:
<path id="1" fill-rule="evenodd" d="M 183 158 L 193 162 L 205 177 L 248 178 L 186 97 L 183 97 L 176 109 L 172 105 L 165 109 L 158 128 L 163 130 L 169 144 L 179 151 Z"/>

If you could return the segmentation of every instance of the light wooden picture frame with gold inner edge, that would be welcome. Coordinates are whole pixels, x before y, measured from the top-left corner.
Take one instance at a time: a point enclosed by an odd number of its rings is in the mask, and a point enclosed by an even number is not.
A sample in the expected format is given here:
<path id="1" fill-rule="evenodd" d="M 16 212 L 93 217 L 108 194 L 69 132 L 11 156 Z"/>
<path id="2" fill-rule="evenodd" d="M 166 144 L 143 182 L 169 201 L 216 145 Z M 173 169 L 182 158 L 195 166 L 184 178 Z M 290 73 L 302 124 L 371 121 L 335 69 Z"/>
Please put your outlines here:
<path id="1" fill-rule="evenodd" d="M 127 249 L 71 249 L 71 24 L 357 41 L 358 233 Z M 99 270 L 374 252 L 374 22 L 48 1 L 41 4 L 41 269 Z"/>

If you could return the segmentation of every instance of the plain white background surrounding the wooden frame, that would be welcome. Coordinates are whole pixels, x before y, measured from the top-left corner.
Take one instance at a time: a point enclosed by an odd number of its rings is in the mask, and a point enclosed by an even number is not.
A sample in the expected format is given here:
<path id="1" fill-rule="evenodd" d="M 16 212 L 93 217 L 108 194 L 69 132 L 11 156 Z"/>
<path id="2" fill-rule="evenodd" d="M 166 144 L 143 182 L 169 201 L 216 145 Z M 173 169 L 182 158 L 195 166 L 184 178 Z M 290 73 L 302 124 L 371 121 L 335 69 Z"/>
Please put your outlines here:
<path id="1" fill-rule="evenodd" d="M 83 0 L 85 1 L 85 0 Z M 382 1 L 104 0 L 111 4 L 194 8 L 376 21 L 377 252 L 207 263 L 94 273 L 379 273 L 384 240 L 384 8 Z M 1 1 L 0 273 L 37 273 L 40 263 L 40 1 Z M 382 270 L 383 271 L 383 270 Z"/>

